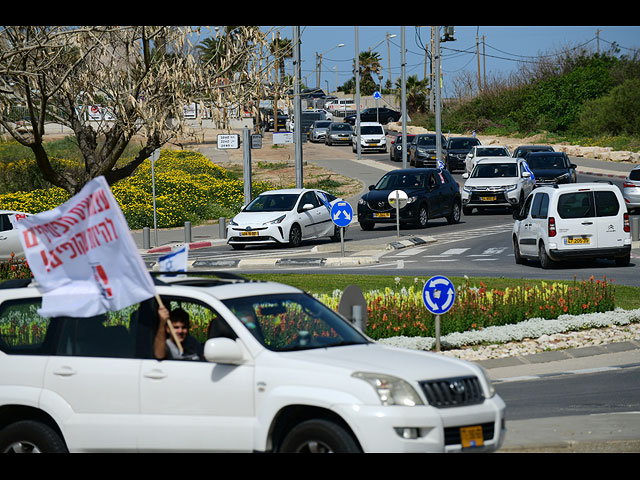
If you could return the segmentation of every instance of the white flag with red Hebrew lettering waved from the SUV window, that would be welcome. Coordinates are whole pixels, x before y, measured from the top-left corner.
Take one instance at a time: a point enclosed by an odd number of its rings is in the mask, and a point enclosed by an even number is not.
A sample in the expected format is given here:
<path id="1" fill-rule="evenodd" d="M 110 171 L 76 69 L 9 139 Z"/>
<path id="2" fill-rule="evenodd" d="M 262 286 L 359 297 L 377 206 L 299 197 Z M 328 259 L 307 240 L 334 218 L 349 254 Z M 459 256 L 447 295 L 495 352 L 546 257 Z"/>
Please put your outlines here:
<path id="1" fill-rule="evenodd" d="M 64 204 L 17 222 L 43 289 L 44 317 L 91 317 L 155 295 L 118 202 L 104 177 Z"/>

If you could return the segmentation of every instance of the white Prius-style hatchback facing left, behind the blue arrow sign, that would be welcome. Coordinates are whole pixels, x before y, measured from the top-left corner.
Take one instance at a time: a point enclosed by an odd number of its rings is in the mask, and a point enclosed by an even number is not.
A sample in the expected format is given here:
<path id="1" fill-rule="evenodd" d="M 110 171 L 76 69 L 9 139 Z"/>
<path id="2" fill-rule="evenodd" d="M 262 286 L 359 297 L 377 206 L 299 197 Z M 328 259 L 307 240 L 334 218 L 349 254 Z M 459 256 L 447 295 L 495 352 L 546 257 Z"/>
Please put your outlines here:
<path id="1" fill-rule="evenodd" d="M 321 237 L 340 239 L 331 220 L 331 205 L 341 201 L 322 190 L 291 188 L 257 196 L 229 221 L 227 243 L 234 249 L 247 245 L 288 244 Z"/>

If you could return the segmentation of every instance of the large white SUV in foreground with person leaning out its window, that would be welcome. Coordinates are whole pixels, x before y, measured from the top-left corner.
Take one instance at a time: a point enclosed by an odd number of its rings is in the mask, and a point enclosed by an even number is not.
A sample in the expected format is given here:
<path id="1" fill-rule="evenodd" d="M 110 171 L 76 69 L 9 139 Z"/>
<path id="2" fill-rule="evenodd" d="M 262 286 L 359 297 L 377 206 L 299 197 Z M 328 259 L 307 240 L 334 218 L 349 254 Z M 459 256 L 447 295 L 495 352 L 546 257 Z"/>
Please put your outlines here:
<path id="1" fill-rule="evenodd" d="M 297 288 L 157 277 L 200 361 L 156 360 L 155 299 L 42 318 L 0 288 L 0 451 L 493 451 L 505 404 L 481 367 L 391 348 Z M 13 288 L 7 288 L 13 287 Z"/>

